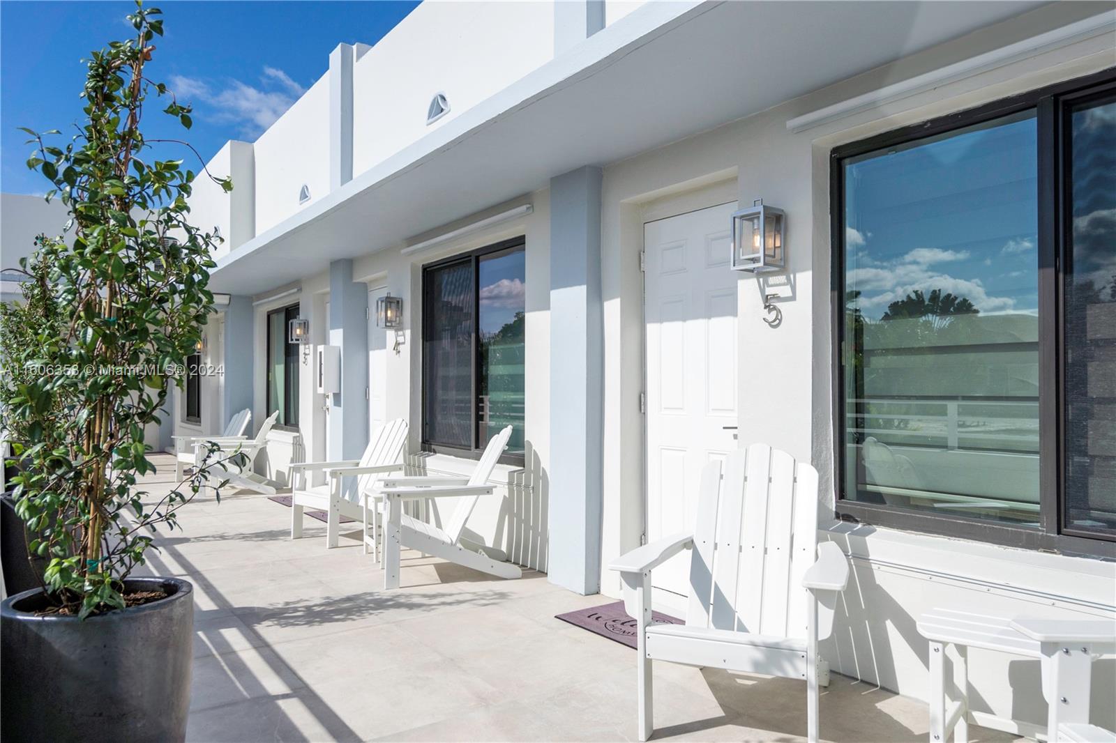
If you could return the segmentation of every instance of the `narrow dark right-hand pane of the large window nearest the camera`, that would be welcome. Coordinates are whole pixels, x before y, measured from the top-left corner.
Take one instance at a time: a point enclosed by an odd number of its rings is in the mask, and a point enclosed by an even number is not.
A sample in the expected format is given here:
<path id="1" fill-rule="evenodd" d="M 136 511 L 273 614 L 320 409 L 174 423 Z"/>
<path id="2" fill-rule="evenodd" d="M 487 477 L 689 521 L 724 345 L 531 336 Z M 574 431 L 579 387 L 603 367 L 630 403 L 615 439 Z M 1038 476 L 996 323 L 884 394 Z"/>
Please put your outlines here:
<path id="1" fill-rule="evenodd" d="M 1116 96 L 1069 112 L 1066 525 L 1116 530 Z"/>

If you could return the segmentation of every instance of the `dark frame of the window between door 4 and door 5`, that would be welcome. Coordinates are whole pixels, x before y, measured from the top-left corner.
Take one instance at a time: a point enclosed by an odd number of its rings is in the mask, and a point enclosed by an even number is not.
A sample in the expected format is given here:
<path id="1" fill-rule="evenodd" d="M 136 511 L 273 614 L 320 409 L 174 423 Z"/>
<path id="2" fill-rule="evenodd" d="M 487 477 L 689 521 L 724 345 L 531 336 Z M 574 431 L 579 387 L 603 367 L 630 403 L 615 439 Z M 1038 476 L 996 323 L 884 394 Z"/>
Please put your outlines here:
<path id="1" fill-rule="evenodd" d="M 420 361 L 420 376 L 422 382 L 422 396 L 419 403 L 419 414 L 422 421 L 421 425 L 421 442 L 422 451 L 431 452 L 433 454 L 446 454 L 449 456 L 458 456 L 468 460 L 479 460 L 481 454 L 484 453 L 484 444 L 488 442 L 479 441 L 479 402 L 477 394 L 477 385 L 480 379 L 480 271 L 479 264 L 480 259 L 489 255 L 491 253 L 499 253 L 504 251 L 520 250 L 523 253 L 527 252 L 527 235 L 519 235 L 516 238 L 510 238 L 508 240 L 501 240 L 500 242 L 494 242 L 483 248 L 478 248 L 475 250 L 470 250 L 463 253 L 454 253 L 443 259 L 439 259 L 431 263 L 424 263 L 422 267 L 422 339 L 421 339 L 421 361 Z M 472 432 L 473 445 L 470 448 L 463 446 L 453 446 L 451 444 L 439 444 L 430 441 L 429 436 L 429 422 L 426 419 L 426 338 L 430 336 L 431 327 L 430 324 L 433 319 L 433 312 L 430 311 L 430 303 L 432 301 L 433 292 L 431 291 L 431 282 L 427 281 L 426 276 L 430 271 L 440 268 L 445 268 L 446 266 L 453 266 L 454 263 L 469 262 L 473 270 L 473 322 L 472 322 L 472 365 L 470 368 L 470 390 L 472 395 L 472 406 L 471 406 L 471 419 L 470 419 L 470 431 Z M 525 281 L 526 283 L 526 281 Z M 526 310 L 525 310 L 526 311 Z M 526 332 L 525 332 L 525 344 L 526 344 Z M 525 369 L 526 378 L 526 369 Z M 527 417 L 523 416 L 523 428 L 526 438 L 527 428 Z M 525 466 L 526 464 L 526 452 L 503 452 L 500 454 L 500 459 L 497 460 L 501 464 L 512 464 L 517 466 Z"/>

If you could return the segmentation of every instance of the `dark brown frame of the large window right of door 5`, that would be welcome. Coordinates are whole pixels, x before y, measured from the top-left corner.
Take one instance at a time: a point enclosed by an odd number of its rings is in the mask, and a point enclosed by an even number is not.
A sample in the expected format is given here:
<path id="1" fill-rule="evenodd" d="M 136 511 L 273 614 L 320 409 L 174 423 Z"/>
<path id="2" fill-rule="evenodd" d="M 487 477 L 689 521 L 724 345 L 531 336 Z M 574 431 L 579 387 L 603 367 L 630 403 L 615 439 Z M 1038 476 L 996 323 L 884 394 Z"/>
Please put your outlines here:
<path id="1" fill-rule="evenodd" d="M 1116 537 L 1074 533 L 1064 521 L 1065 347 L 1064 281 L 1071 270 L 1067 245 L 1066 178 L 1069 136 L 1067 117 L 1074 103 L 1116 88 L 1116 67 L 1056 85 L 1002 98 L 974 108 L 834 147 L 829 153 L 830 337 L 833 395 L 833 456 L 835 517 L 870 525 L 891 527 L 945 537 L 971 539 L 1030 550 L 1116 559 Z M 857 155 L 982 124 L 1035 109 L 1038 145 L 1038 293 L 1039 293 L 1039 528 L 1026 528 L 965 515 L 939 515 L 882 503 L 850 501 L 845 492 L 846 440 L 845 369 L 845 178 L 844 162 Z"/>

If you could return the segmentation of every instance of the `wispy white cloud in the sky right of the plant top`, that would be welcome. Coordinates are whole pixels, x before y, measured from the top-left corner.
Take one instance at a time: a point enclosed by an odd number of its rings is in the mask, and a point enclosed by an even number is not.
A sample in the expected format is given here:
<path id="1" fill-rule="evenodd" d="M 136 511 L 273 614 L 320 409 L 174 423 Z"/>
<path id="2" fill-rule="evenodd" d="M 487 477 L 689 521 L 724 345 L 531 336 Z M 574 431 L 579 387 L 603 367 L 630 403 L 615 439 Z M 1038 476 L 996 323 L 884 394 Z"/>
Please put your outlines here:
<path id="1" fill-rule="evenodd" d="M 254 138 L 282 116 L 306 90 L 281 69 L 264 67 L 259 86 L 229 78 L 210 81 L 172 75 L 170 89 L 180 103 L 194 106 L 194 118 L 235 124 Z"/>

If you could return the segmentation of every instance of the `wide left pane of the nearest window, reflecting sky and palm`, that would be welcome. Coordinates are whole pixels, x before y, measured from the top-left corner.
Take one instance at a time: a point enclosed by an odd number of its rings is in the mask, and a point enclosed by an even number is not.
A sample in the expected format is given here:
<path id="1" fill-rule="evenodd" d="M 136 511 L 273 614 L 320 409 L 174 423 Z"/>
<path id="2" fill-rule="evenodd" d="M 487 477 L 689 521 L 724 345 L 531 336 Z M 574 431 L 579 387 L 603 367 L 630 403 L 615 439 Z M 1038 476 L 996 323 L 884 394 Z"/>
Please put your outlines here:
<path id="1" fill-rule="evenodd" d="M 844 496 L 1039 521 L 1033 109 L 844 161 Z"/>

